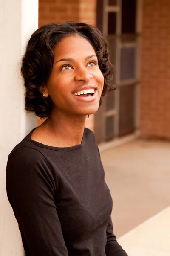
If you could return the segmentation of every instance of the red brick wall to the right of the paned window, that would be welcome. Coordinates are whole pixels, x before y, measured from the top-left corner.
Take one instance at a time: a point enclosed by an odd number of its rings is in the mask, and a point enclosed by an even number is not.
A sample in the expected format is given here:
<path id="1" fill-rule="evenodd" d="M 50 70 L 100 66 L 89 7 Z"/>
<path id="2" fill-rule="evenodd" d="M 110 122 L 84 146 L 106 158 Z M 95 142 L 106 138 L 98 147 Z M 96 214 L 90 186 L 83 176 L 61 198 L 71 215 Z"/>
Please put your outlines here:
<path id="1" fill-rule="evenodd" d="M 170 0 L 143 0 L 141 135 L 170 138 Z"/>

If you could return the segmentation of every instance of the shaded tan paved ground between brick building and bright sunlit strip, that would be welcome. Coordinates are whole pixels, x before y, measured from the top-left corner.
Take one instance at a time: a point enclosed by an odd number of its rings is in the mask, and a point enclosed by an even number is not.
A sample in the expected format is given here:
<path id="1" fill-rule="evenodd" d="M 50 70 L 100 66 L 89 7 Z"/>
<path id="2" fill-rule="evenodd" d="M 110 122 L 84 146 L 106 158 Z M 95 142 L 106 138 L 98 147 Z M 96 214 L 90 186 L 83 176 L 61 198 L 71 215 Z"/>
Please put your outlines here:
<path id="1" fill-rule="evenodd" d="M 101 158 L 117 238 L 170 206 L 170 143 L 139 139 L 102 151 Z"/>

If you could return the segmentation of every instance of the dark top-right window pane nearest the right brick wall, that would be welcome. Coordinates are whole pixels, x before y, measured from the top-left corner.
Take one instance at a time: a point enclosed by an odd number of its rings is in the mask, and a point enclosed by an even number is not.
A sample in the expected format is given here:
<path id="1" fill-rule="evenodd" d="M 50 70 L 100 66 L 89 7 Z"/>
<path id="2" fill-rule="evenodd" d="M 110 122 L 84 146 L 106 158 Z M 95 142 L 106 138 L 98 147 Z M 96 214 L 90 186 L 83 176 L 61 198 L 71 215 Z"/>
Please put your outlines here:
<path id="1" fill-rule="evenodd" d="M 122 0 L 122 33 L 135 33 L 136 0 Z"/>

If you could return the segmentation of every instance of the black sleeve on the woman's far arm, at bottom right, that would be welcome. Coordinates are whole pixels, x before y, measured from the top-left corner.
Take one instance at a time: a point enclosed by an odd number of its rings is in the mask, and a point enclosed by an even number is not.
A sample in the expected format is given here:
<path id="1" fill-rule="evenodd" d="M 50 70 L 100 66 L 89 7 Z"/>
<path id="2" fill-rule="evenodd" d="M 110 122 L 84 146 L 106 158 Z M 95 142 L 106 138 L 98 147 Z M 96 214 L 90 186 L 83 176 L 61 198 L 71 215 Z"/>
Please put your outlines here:
<path id="1" fill-rule="evenodd" d="M 116 240 L 116 236 L 113 234 L 113 224 L 111 218 L 106 230 L 107 244 L 105 247 L 105 253 L 107 256 L 127 256 L 127 253 L 122 249 Z"/>

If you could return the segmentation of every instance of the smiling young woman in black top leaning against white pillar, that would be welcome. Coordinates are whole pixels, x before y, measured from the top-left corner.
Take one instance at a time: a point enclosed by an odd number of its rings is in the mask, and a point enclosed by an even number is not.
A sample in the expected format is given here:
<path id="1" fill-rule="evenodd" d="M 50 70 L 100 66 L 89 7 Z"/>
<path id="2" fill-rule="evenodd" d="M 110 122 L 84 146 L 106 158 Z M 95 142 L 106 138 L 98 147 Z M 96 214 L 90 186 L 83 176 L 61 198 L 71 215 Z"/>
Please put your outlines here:
<path id="1" fill-rule="evenodd" d="M 21 73 L 26 109 L 47 118 L 11 152 L 9 202 L 27 256 L 127 256 L 111 221 L 112 199 L 85 119 L 113 90 L 108 43 L 85 23 L 42 26 Z"/>

